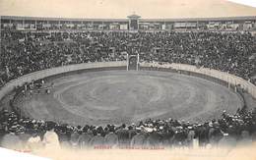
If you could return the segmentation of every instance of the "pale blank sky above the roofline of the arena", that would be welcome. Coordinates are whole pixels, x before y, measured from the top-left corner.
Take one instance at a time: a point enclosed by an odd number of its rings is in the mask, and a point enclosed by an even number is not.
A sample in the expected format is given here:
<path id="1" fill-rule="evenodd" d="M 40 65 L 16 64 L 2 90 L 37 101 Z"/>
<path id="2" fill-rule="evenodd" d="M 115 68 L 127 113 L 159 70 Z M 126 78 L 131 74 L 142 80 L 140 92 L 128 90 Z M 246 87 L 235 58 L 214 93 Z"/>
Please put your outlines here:
<path id="1" fill-rule="evenodd" d="M 256 16 L 256 0 L 0 0 L 1 16 L 124 19 L 133 13 L 145 19 Z"/>

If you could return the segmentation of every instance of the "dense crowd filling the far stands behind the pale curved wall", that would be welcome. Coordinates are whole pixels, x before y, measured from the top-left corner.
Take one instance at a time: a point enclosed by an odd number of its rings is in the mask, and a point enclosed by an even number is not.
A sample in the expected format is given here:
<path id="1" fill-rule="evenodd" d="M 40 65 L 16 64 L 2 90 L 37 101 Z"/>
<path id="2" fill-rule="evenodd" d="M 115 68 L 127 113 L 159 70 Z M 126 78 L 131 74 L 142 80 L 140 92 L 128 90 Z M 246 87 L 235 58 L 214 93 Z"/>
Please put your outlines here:
<path id="1" fill-rule="evenodd" d="M 1 32 L 0 85 L 43 69 L 70 64 L 141 61 L 197 65 L 255 84 L 256 37 L 250 32 Z"/>

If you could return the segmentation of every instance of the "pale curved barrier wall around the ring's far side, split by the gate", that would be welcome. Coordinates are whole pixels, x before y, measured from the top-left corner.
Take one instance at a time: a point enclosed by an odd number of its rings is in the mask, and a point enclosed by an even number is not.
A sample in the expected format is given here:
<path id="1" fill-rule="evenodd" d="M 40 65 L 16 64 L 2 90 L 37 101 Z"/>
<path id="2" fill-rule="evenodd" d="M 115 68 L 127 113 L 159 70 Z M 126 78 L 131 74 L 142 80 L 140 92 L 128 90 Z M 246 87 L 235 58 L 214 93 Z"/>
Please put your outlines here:
<path id="1" fill-rule="evenodd" d="M 111 70 L 111 69 L 126 69 L 126 61 L 115 61 L 115 62 L 97 62 L 97 63 L 86 63 L 86 64 L 77 64 L 69 65 L 63 67 L 57 67 L 52 69 L 46 69 L 42 71 L 37 71 L 28 75 L 25 75 L 21 78 L 11 80 L 6 83 L 2 88 L 0 88 L 0 100 L 9 92 L 11 92 L 16 86 L 23 85 L 25 82 L 31 82 L 32 80 L 44 79 L 47 77 L 52 77 L 56 75 L 68 74 L 70 72 L 83 71 L 83 70 Z M 161 69 L 161 71 L 176 71 L 181 74 L 192 75 L 207 80 L 214 80 L 221 82 L 225 85 L 237 85 L 250 93 L 254 98 L 256 98 L 256 86 L 247 80 L 243 80 L 236 76 L 220 72 L 217 70 L 210 70 L 208 68 L 197 68 L 191 65 L 185 64 L 160 64 L 160 63 L 141 63 L 141 69 Z M 96 69 L 96 70 L 95 70 Z M 203 77 L 202 77 L 203 76 Z"/>

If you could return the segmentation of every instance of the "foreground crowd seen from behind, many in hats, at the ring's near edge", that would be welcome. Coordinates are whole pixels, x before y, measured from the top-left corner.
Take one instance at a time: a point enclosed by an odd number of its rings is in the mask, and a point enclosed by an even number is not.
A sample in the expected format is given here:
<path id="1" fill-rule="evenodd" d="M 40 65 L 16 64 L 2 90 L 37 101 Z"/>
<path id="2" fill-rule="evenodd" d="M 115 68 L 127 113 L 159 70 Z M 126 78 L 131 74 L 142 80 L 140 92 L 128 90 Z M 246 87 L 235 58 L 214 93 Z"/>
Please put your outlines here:
<path id="1" fill-rule="evenodd" d="M 169 118 L 119 126 L 71 126 L 21 117 L 5 109 L 0 111 L 0 146 L 16 148 L 30 143 L 43 147 L 50 142 L 49 137 L 45 137 L 49 134 L 56 137 L 60 147 L 72 148 L 160 149 L 192 147 L 195 141 L 202 147 L 233 147 L 252 144 L 256 140 L 256 108 L 240 110 L 235 115 L 224 112 L 220 119 L 204 124 Z"/>

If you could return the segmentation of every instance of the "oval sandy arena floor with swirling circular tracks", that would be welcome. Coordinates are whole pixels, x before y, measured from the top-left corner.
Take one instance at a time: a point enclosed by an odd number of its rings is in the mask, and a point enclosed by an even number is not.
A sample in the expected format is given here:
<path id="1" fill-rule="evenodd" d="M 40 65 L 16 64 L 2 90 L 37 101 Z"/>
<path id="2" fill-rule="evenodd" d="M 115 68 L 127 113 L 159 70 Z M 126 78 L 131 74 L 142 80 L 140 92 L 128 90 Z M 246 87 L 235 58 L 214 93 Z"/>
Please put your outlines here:
<path id="1" fill-rule="evenodd" d="M 117 66 L 40 73 L 38 79 L 45 78 L 50 93 L 19 94 L 14 105 L 25 116 L 73 125 L 129 124 L 149 118 L 205 122 L 243 106 L 238 93 L 213 80 Z"/>

